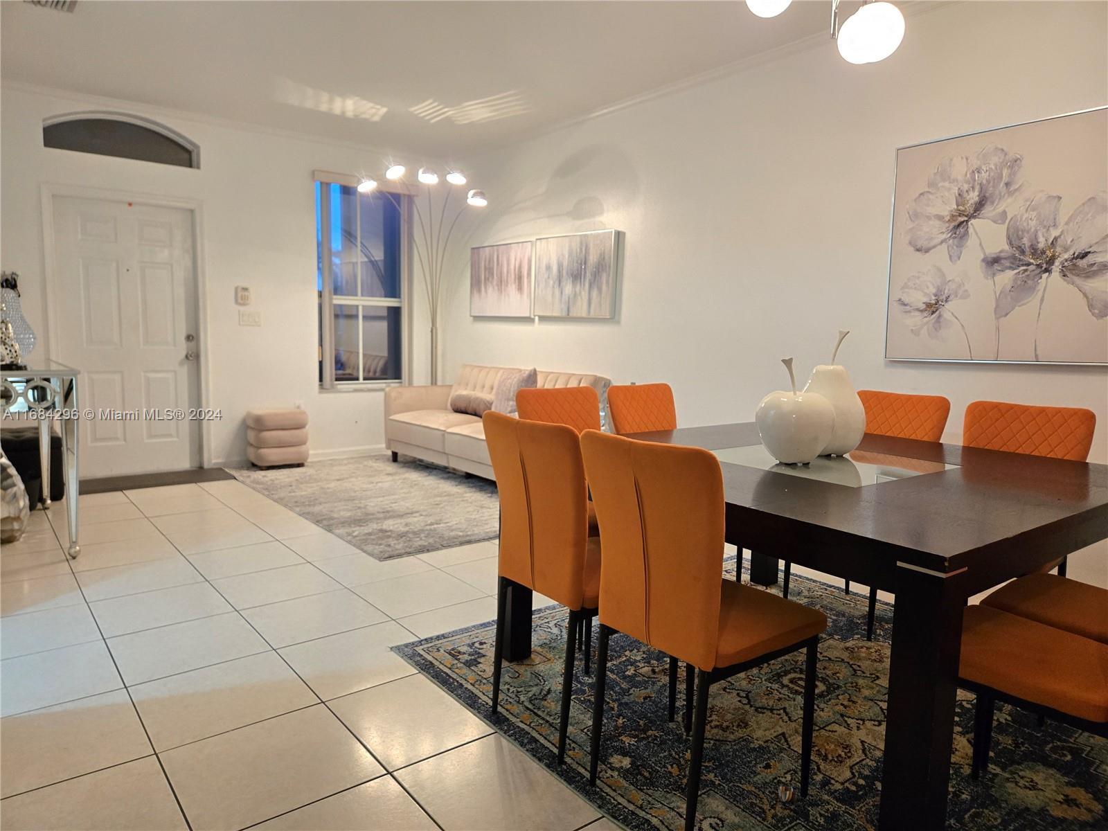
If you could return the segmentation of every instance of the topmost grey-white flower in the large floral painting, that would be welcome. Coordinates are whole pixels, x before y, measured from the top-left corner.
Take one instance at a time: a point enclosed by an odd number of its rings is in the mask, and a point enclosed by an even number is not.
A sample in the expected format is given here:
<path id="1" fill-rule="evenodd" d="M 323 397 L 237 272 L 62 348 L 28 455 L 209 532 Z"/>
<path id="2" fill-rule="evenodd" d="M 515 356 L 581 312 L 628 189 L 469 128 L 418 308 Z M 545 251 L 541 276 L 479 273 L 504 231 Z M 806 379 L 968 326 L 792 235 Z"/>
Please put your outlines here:
<path id="1" fill-rule="evenodd" d="M 970 223 L 1007 220 L 1005 205 L 1023 187 L 1023 156 L 996 145 L 973 156 L 944 158 L 907 209 L 909 245 L 921 254 L 945 245 L 951 263 L 957 263 L 970 239 Z"/>

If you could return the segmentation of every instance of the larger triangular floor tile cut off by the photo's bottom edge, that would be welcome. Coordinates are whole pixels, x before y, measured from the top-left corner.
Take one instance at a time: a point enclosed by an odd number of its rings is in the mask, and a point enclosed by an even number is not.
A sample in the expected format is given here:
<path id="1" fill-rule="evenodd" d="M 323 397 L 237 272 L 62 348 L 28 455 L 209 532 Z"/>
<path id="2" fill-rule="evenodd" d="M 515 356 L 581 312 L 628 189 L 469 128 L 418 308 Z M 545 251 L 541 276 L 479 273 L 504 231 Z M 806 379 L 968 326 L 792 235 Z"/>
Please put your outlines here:
<path id="1" fill-rule="evenodd" d="M 259 831 L 438 831 L 391 777 L 336 793 L 255 828 Z"/>

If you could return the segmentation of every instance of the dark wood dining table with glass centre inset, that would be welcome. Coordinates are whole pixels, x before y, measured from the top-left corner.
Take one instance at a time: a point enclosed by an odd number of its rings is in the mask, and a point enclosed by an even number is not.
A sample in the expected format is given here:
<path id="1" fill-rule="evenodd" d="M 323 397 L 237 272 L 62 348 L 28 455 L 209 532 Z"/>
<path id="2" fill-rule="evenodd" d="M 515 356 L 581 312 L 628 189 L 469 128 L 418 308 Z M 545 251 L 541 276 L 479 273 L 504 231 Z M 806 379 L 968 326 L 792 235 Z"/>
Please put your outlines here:
<path id="1" fill-rule="evenodd" d="M 895 594 L 879 828 L 943 828 L 966 601 L 1108 538 L 1108 466 L 868 433 L 852 462 L 903 475 L 843 484 L 726 461 L 760 444 L 753 423 L 630 438 L 717 452 L 727 542 L 756 552 L 755 582 L 783 558 Z M 509 660 L 531 655 L 517 595 Z"/>

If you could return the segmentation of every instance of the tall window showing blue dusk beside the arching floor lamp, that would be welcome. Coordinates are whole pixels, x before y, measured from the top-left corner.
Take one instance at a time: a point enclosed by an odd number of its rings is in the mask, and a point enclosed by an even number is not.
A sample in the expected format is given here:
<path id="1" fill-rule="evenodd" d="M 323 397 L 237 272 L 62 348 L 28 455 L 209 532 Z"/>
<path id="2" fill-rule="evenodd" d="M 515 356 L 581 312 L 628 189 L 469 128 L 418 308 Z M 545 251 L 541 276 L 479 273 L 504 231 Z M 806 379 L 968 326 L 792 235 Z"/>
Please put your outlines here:
<path id="1" fill-rule="evenodd" d="M 324 389 L 403 379 L 406 198 L 316 183 Z"/>

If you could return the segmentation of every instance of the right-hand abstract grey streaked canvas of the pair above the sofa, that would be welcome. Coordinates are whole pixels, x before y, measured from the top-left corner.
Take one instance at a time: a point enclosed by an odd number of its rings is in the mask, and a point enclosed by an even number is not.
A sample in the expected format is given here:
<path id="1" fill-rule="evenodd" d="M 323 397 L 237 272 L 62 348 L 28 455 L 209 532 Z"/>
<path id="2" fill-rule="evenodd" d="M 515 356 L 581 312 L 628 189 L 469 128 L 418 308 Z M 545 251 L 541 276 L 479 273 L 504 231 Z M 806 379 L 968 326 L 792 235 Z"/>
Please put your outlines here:
<path id="1" fill-rule="evenodd" d="M 612 318 L 622 232 L 591 230 L 535 240 L 535 315 Z"/>

